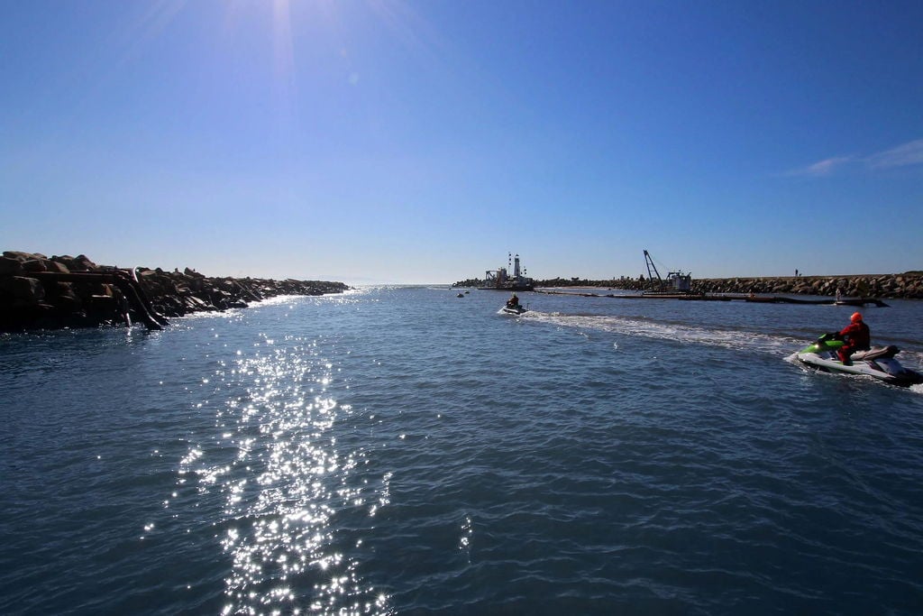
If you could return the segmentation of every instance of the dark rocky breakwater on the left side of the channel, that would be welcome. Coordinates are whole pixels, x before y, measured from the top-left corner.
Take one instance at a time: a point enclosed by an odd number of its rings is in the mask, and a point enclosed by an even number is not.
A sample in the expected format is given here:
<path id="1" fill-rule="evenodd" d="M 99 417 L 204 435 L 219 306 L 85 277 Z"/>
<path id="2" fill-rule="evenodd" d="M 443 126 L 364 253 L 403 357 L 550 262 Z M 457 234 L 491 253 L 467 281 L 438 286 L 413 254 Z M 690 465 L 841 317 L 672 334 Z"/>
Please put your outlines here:
<path id="1" fill-rule="evenodd" d="M 84 255 L 6 251 L 0 257 L 0 331 L 98 327 L 144 322 L 159 329 L 164 317 L 246 308 L 274 296 L 342 293 L 326 281 L 213 278 L 184 272 L 97 265 Z"/>

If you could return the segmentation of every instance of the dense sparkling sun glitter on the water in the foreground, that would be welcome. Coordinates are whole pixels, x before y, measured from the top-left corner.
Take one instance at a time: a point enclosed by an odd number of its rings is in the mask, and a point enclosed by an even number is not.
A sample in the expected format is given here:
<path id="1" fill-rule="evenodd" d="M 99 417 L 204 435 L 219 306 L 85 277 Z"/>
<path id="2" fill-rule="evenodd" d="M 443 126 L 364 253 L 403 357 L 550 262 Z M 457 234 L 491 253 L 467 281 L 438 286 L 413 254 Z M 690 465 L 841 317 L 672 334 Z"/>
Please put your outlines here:
<path id="1" fill-rule="evenodd" d="M 234 369 L 216 376 L 245 392 L 218 413 L 233 461 L 209 465 L 192 448 L 181 465 L 197 473 L 201 489 L 224 494 L 219 538 L 231 570 L 222 613 L 381 612 L 388 596 L 364 586 L 332 519 L 343 507 L 374 516 L 388 502 L 388 477 L 380 494 L 366 494 L 375 489 L 367 481 L 352 485 L 366 453 L 338 447 L 335 427 L 352 409 L 329 392 L 335 368 L 317 341 L 261 336 L 253 356 L 238 356 Z M 309 605 L 296 604 L 305 597 Z"/>

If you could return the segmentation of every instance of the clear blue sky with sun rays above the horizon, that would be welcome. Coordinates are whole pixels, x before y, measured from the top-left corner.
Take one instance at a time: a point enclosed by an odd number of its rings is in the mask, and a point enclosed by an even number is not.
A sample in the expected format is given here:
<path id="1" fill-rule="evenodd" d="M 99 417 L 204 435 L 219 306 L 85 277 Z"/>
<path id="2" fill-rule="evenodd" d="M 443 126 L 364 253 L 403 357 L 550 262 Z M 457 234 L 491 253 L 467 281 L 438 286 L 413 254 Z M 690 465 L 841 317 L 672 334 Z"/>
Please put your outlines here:
<path id="1" fill-rule="evenodd" d="M 0 0 L 0 248 L 450 283 L 923 269 L 923 3 Z"/>

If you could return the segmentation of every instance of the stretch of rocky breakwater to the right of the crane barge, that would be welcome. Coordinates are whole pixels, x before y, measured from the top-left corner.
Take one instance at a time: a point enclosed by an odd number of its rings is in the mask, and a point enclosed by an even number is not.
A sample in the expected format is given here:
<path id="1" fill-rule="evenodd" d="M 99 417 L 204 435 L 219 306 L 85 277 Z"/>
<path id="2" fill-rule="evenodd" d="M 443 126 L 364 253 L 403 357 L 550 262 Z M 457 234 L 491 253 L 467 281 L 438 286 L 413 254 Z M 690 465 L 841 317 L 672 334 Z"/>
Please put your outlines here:
<path id="1" fill-rule="evenodd" d="M 923 299 L 923 272 L 848 276 L 785 276 L 777 278 L 704 278 L 692 291 L 719 294 L 785 294 L 808 296 Z"/>

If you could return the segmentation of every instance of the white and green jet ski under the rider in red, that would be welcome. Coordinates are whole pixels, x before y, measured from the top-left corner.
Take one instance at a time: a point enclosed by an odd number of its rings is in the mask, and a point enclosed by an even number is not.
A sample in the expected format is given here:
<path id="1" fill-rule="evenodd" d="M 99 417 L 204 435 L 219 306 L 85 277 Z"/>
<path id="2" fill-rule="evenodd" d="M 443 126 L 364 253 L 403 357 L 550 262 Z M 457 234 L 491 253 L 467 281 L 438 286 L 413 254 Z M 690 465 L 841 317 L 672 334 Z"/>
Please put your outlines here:
<path id="1" fill-rule="evenodd" d="M 850 362 L 847 364 L 840 361 L 836 354 L 841 346 L 843 341 L 836 340 L 835 334 L 825 333 L 817 342 L 804 347 L 795 356 L 802 364 L 822 372 L 865 375 L 901 387 L 923 383 L 923 374 L 904 368 L 894 358 L 901 350 L 893 344 L 873 346 L 868 351 L 857 351 L 850 356 Z"/>

